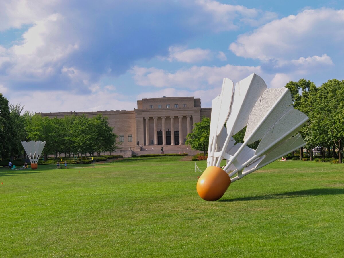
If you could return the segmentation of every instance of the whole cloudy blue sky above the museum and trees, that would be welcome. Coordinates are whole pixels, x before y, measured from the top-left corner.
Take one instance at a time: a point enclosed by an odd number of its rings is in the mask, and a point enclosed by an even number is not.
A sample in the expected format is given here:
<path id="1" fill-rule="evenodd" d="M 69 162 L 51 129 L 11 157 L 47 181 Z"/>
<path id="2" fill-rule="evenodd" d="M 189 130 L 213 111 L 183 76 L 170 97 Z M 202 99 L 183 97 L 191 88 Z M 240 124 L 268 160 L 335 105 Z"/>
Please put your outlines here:
<path id="1" fill-rule="evenodd" d="M 252 72 L 268 87 L 344 79 L 343 1 L 0 2 L 0 92 L 32 112 L 201 98 Z"/>

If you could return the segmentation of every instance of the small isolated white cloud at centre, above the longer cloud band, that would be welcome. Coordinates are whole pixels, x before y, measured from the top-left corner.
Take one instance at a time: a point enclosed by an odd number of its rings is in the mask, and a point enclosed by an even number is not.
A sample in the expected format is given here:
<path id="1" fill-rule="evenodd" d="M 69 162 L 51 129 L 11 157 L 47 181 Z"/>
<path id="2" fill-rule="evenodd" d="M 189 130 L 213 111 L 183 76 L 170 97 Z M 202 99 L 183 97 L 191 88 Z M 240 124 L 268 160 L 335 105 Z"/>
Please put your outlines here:
<path id="1" fill-rule="evenodd" d="M 196 63 L 202 60 L 211 60 L 213 55 L 209 49 L 193 48 L 186 49 L 186 47 L 172 46 L 169 47 L 169 61 L 179 61 L 185 63 Z"/>

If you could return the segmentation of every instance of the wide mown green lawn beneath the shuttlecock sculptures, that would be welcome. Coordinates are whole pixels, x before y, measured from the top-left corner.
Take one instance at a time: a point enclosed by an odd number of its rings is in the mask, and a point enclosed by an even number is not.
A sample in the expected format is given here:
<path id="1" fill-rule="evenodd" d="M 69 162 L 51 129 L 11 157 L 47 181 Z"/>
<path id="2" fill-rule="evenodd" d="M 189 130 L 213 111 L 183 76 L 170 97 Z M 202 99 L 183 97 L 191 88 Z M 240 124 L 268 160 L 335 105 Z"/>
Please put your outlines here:
<path id="1" fill-rule="evenodd" d="M 0 256 L 344 256 L 342 164 L 276 161 L 206 202 L 180 159 L 1 168 Z"/>

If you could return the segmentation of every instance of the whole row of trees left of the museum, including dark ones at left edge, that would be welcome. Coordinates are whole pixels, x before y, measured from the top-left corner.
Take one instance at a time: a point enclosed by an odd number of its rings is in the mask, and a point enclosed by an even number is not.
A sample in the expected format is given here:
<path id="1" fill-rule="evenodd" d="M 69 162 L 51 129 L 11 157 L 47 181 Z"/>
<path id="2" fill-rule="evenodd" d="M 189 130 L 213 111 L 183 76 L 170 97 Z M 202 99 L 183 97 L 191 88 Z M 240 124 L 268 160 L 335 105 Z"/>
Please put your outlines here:
<path id="1" fill-rule="evenodd" d="M 46 141 L 45 158 L 61 153 L 66 156 L 97 155 L 119 148 L 118 136 L 108 124 L 108 117 L 66 115 L 64 118 L 42 117 L 23 112 L 20 104 L 10 104 L 0 93 L 0 156 L 14 159 L 24 154 L 22 141 Z"/>

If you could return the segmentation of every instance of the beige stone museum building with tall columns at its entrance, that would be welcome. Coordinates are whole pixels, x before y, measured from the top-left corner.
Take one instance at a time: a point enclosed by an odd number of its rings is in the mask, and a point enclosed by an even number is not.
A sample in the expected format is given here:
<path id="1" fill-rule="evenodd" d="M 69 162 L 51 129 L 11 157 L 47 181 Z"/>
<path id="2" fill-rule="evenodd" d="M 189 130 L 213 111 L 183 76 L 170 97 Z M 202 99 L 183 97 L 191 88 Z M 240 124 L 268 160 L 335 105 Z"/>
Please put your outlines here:
<path id="1" fill-rule="evenodd" d="M 201 108 L 201 99 L 194 97 L 162 97 L 137 101 L 134 110 L 104 110 L 96 112 L 50 112 L 42 116 L 64 117 L 81 115 L 88 117 L 102 114 L 109 118 L 122 149 L 141 151 L 149 145 L 184 145 L 186 135 L 201 117 L 211 116 L 211 108 Z"/>

